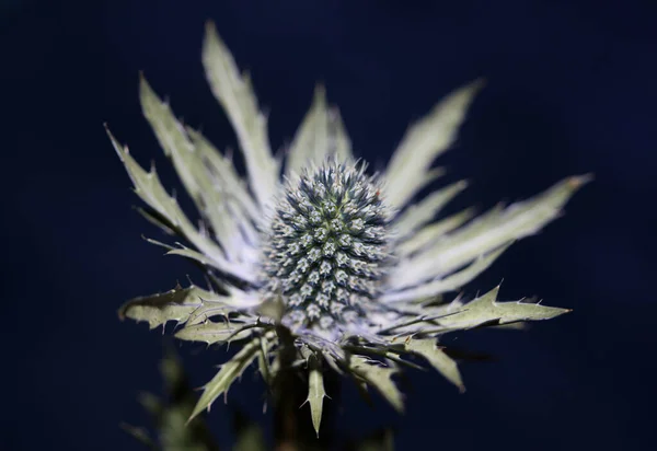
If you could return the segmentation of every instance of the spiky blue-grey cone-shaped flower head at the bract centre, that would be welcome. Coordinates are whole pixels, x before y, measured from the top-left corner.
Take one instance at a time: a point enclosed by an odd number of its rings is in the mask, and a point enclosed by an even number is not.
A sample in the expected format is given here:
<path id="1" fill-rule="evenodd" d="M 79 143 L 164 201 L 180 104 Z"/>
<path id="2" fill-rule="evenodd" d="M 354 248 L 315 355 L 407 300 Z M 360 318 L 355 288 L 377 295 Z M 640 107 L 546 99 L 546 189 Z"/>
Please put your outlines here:
<path id="1" fill-rule="evenodd" d="M 377 302 L 389 261 L 389 211 L 365 165 L 335 160 L 286 184 L 265 236 L 264 297 L 283 294 L 288 325 L 331 329 Z"/>

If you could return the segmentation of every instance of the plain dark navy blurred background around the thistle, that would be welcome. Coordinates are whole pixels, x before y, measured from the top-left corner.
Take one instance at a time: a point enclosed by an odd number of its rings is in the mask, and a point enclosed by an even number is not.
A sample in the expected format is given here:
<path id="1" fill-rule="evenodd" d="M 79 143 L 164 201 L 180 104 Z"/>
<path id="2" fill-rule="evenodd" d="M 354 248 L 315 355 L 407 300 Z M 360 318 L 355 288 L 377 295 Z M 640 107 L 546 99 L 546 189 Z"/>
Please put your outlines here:
<path id="1" fill-rule="evenodd" d="M 643 450 L 655 440 L 657 345 L 657 4 L 654 1 L 0 1 L 2 450 L 138 450 L 118 425 L 147 424 L 159 392 L 160 331 L 120 323 L 127 299 L 185 282 L 195 268 L 162 239 L 103 130 L 107 122 L 165 186 L 181 185 L 138 105 L 138 73 L 185 123 L 235 147 L 200 65 L 216 22 L 249 69 L 276 148 L 289 142 L 316 81 L 356 152 L 382 167 L 406 126 L 449 91 L 485 77 L 443 182 L 471 181 L 451 206 L 485 210 L 570 174 L 596 181 L 566 215 L 515 244 L 466 287 L 504 279 L 507 300 L 538 296 L 569 315 L 527 332 L 473 332 L 459 394 L 412 372 L 407 413 L 347 390 L 345 437 L 392 427 L 400 450 Z M 441 182 L 442 183 L 442 182 Z M 182 195 L 180 196 L 183 197 Z M 192 382 L 224 350 L 180 346 Z M 228 396 L 256 420 L 247 371 Z M 330 401 L 328 401 L 330 402 Z M 208 417 L 230 443 L 230 409 Z"/>

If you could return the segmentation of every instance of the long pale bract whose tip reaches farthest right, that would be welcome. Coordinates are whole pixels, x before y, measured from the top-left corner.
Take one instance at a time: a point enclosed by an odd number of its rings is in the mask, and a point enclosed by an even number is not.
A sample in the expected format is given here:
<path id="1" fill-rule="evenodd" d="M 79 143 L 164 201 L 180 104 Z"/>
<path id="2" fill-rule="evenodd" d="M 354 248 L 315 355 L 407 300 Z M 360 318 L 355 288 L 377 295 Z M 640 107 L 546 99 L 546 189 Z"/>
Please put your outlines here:
<path id="1" fill-rule="evenodd" d="M 535 197 L 483 215 L 400 265 L 405 286 L 445 277 L 505 243 L 537 233 L 589 180 L 588 175 L 568 177 Z"/>

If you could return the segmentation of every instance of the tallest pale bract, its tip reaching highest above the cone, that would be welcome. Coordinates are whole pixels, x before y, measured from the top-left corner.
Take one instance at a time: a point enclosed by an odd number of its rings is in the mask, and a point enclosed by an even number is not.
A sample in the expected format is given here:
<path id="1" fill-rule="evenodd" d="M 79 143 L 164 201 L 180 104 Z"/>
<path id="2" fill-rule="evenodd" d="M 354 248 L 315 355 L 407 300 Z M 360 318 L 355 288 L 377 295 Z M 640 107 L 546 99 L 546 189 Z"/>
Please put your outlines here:
<path id="1" fill-rule="evenodd" d="M 276 192 L 280 164 L 272 154 L 267 119 L 258 109 L 251 82 L 240 73 L 211 22 L 206 24 L 203 65 L 212 94 L 238 136 L 251 187 L 261 207 L 264 207 Z"/>

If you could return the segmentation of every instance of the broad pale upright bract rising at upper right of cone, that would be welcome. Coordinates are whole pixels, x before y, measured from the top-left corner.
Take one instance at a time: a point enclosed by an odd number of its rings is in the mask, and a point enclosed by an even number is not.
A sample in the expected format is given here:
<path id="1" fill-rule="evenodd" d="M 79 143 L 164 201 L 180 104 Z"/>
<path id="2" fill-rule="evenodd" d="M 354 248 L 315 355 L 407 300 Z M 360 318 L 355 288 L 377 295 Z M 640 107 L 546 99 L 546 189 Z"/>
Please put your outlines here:
<path id="1" fill-rule="evenodd" d="M 438 103 L 431 112 L 406 130 L 394 151 L 385 180 L 387 198 L 393 206 L 403 206 L 431 180 L 429 167 L 457 137 L 465 111 L 483 82 L 470 83 Z"/>

